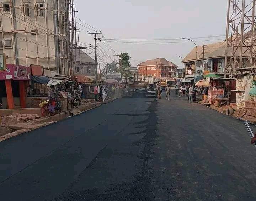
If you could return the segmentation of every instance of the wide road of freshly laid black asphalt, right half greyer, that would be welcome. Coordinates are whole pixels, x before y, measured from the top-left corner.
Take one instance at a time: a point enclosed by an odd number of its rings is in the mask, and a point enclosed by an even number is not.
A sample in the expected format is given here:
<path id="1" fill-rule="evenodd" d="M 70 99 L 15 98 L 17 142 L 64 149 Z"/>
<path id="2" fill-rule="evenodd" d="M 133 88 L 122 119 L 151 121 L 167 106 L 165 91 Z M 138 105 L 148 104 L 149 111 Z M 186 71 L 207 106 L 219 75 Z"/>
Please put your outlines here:
<path id="1" fill-rule="evenodd" d="M 122 98 L 1 142 L 0 199 L 255 200 L 255 154 L 243 122 L 185 97 Z"/>

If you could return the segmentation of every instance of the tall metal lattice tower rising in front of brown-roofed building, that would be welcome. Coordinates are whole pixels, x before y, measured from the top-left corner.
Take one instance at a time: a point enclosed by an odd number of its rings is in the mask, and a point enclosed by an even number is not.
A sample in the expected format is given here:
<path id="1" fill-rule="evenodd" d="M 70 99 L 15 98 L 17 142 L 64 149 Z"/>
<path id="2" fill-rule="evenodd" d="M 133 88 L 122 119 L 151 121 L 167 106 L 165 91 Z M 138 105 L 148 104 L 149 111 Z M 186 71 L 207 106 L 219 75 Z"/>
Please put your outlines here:
<path id="1" fill-rule="evenodd" d="M 256 0 L 228 0 L 225 76 L 256 62 Z"/>

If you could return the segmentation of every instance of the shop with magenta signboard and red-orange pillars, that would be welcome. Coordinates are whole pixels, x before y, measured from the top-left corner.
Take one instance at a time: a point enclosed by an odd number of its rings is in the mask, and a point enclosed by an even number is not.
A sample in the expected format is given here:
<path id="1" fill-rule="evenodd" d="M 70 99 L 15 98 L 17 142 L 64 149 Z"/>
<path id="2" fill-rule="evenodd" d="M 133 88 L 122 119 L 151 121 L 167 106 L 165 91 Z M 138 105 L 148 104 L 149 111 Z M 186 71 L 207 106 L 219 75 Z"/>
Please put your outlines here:
<path id="1" fill-rule="evenodd" d="M 25 86 L 30 80 L 30 75 L 30 67 L 14 64 L 6 64 L 0 71 L 0 102 L 4 108 L 13 109 L 14 105 L 26 108 Z"/>

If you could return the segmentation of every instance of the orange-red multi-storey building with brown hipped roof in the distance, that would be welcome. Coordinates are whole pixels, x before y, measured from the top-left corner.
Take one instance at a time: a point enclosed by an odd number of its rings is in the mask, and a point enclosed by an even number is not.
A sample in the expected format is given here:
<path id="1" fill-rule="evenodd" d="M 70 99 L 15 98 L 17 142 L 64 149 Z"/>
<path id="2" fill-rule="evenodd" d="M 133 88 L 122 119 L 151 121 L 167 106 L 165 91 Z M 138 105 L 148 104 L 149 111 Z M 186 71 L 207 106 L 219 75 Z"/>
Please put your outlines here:
<path id="1" fill-rule="evenodd" d="M 177 65 L 165 58 L 147 60 L 137 66 L 138 74 L 142 76 L 176 77 Z"/>

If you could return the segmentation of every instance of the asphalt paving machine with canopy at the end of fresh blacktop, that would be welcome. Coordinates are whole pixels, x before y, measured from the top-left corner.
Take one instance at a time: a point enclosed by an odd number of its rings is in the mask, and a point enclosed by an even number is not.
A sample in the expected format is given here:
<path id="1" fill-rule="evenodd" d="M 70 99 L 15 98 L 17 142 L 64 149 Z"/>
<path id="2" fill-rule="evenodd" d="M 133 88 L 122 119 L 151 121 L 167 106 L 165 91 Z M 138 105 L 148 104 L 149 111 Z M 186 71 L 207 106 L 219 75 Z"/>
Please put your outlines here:
<path id="1" fill-rule="evenodd" d="M 156 87 L 147 80 L 138 80 L 138 69 L 129 67 L 124 69 L 126 90 L 122 97 L 156 97 Z M 154 80 L 154 79 L 153 79 Z"/>

